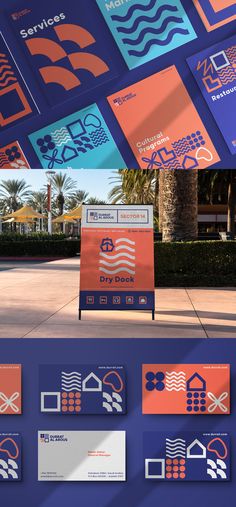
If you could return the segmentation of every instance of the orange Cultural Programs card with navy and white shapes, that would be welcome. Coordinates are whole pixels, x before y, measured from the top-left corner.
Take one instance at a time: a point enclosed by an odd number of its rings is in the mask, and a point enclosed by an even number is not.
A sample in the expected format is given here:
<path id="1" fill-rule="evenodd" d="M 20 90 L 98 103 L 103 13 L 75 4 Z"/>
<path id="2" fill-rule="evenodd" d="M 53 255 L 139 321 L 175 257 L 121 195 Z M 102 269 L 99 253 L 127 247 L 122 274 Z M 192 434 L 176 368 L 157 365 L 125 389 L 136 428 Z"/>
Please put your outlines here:
<path id="1" fill-rule="evenodd" d="M 108 101 L 141 169 L 205 169 L 219 161 L 175 66 Z"/>

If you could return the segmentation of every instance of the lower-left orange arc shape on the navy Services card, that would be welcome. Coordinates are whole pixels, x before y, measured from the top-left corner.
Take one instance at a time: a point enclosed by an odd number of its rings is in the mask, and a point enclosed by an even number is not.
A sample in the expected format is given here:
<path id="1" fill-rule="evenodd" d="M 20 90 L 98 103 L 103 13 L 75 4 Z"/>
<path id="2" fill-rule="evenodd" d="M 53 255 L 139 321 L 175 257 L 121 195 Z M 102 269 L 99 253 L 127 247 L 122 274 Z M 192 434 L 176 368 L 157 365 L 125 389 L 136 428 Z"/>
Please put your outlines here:
<path id="1" fill-rule="evenodd" d="M 80 80 L 70 70 L 64 69 L 63 67 L 42 67 L 39 72 L 46 84 L 56 83 L 65 90 L 72 90 L 77 86 L 81 85 Z"/>

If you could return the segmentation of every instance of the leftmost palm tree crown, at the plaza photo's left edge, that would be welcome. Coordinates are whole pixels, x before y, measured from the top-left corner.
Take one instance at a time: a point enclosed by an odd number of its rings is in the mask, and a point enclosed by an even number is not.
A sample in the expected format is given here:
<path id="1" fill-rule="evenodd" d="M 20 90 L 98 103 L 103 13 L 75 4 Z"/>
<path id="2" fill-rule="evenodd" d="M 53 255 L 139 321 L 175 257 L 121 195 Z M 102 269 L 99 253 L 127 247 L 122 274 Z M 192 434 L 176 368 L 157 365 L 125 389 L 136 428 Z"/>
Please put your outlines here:
<path id="1" fill-rule="evenodd" d="M 4 213 L 17 211 L 30 191 L 31 185 L 25 180 L 3 180 L 0 184 L 0 198 Z"/>

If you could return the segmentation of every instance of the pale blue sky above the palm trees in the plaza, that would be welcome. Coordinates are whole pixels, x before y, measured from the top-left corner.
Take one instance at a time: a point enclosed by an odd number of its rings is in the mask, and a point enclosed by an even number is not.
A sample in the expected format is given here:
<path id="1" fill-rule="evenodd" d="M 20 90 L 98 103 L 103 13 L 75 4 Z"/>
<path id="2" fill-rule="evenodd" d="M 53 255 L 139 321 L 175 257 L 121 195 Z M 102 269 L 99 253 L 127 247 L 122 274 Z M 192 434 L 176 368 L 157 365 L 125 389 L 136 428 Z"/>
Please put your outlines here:
<path id="1" fill-rule="evenodd" d="M 60 172 L 65 172 L 73 180 L 77 181 L 78 190 L 86 190 L 89 192 L 90 197 L 98 197 L 102 200 L 108 200 L 108 193 L 114 186 L 109 178 L 115 176 L 115 171 L 109 171 L 107 169 L 99 169 L 99 171 L 89 169 L 79 171 L 65 170 Z M 28 185 L 32 186 L 34 191 L 40 190 L 47 181 L 45 171 L 0 171 L 0 182 L 1 180 L 8 179 L 24 179 Z"/>

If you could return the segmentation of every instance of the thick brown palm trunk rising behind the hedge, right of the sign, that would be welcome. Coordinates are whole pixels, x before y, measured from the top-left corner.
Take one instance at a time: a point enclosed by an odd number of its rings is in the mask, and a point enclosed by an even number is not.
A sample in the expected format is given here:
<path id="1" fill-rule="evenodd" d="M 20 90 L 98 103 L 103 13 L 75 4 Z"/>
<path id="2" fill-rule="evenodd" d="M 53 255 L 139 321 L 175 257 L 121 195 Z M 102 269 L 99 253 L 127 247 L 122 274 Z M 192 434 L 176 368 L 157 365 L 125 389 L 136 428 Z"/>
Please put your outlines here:
<path id="1" fill-rule="evenodd" d="M 198 171 L 161 171 L 163 241 L 190 241 L 198 236 Z"/>

